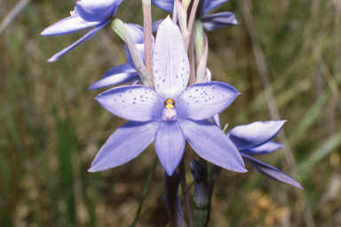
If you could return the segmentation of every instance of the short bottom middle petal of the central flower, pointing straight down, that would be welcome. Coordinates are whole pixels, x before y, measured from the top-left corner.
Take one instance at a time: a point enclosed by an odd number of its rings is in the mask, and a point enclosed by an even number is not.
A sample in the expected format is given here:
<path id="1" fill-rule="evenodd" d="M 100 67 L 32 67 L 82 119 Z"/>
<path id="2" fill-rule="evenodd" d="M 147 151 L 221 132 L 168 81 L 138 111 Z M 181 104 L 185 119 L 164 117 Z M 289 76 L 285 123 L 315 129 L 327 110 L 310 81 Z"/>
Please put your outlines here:
<path id="1" fill-rule="evenodd" d="M 185 150 L 185 136 L 178 121 L 163 121 L 155 137 L 155 150 L 161 165 L 172 176 Z"/>

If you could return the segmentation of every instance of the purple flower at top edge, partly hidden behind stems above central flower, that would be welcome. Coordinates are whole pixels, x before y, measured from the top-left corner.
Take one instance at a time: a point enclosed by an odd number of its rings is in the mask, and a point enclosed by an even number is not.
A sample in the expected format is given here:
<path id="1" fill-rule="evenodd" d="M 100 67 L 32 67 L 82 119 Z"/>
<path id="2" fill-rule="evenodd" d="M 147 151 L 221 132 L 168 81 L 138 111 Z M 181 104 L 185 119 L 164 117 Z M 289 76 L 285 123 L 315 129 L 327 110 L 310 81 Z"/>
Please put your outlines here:
<path id="1" fill-rule="evenodd" d="M 227 1 L 228 0 L 199 1 L 198 8 L 196 10 L 196 15 L 197 18 L 200 18 L 202 20 L 202 27 L 205 27 L 208 31 L 212 31 L 218 28 L 238 24 L 233 12 L 218 12 L 211 15 L 206 15 L 213 9 L 217 8 L 220 4 L 224 4 Z M 152 4 L 155 4 L 155 6 L 167 12 L 173 12 L 174 9 L 173 0 L 152 0 Z M 155 24 L 155 27 L 156 26 L 157 24 Z"/>

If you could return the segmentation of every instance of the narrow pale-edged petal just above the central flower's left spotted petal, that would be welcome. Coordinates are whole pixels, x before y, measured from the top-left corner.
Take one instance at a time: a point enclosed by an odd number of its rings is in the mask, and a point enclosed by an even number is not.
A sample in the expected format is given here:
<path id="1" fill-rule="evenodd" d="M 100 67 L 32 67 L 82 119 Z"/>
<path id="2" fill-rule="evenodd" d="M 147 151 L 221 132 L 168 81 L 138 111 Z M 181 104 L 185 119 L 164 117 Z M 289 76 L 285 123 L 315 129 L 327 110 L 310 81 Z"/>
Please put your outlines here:
<path id="1" fill-rule="evenodd" d="M 136 70 L 134 70 L 134 72 L 131 72 L 131 73 L 113 74 L 113 75 L 103 78 L 102 80 L 98 82 L 93 83 L 89 87 L 89 90 L 102 89 L 102 88 L 114 86 L 118 83 L 123 83 L 123 82 L 132 82 L 138 78 L 139 78 L 139 74 L 138 72 L 136 72 Z"/>

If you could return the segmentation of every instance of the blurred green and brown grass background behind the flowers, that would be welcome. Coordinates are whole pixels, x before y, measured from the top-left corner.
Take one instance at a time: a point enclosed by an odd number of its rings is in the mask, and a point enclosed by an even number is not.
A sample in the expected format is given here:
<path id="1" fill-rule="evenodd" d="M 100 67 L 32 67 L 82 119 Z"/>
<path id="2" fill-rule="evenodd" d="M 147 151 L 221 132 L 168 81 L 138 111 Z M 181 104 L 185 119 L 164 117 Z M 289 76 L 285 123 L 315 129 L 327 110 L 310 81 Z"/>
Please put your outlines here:
<path id="1" fill-rule="evenodd" d="M 11 14 L 23 3 L 25 7 Z M 25 4 L 26 3 L 26 4 Z M 47 59 L 86 31 L 44 37 L 75 1 L 0 2 L 0 226 L 129 226 L 155 160 L 154 146 L 122 167 L 88 173 L 123 120 L 87 90 L 126 62 L 109 26 L 55 63 Z M 228 129 L 287 119 L 282 150 L 258 157 L 295 177 L 303 191 L 250 172 L 223 170 L 210 226 L 341 226 L 341 2 L 230 0 L 239 26 L 207 32 L 213 80 L 240 95 L 221 114 Z M 154 19 L 167 14 L 153 7 Z M 139 1 L 116 14 L 142 25 Z M 8 26 L 5 18 L 12 18 Z M 186 165 L 194 158 L 186 148 Z M 188 171 L 188 166 L 187 166 Z M 193 193 L 193 188 L 190 193 Z M 136 226 L 167 226 L 157 164 Z"/>

